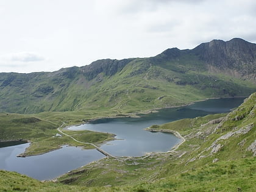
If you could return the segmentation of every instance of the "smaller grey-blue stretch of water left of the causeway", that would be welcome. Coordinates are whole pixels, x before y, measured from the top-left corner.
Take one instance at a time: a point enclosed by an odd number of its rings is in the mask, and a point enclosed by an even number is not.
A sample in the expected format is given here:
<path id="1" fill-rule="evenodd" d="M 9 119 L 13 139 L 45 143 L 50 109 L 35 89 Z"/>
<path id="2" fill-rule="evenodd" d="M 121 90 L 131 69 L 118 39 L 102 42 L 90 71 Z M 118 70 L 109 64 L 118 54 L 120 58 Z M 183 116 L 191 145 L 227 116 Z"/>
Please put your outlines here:
<path id="1" fill-rule="evenodd" d="M 0 169 L 16 171 L 38 180 L 54 179 L 65 172 L 105 157 L 95 149 L 63 146 L 43 155 L 16 157 L 29 143 L 0 148 Z"/>

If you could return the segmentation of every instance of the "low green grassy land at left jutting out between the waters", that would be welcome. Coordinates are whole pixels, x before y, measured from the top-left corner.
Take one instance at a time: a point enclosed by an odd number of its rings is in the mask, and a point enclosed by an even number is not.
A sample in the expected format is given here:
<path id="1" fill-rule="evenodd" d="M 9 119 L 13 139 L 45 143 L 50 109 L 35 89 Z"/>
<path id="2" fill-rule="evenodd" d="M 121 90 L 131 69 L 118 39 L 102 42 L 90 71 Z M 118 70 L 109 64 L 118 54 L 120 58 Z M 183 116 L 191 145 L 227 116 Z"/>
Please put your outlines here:
<path id="1" fill-rule="evenodd" d="M 44 116 L 44 114 L 38 116 Z M 69 123 L 74 123 L 74 121 L 70 121 L 72 118 L 74 118 L 74 116 L 71 115 L 69 118 Z M 77 143 L 65 135 L 62 137 L 54 137 L 56 133 L 59 133 L 56 129 L 61 125 L 62 119 L 63 117 L 60 118 L 59 115 L 52 116 L 51 119 L 44 119 L 30 115 L 0 113 L 0 141 L 30 141 L 31 144 L 29 148 L 27 148 L 26 152 L 22 154 L 25 156 L 43 154 L 45 152 L 59 149 L 65 144 L 69 144 L 71 146 L 83 146 L 87 149 L 91 148 L 90 145 L 85 146 L 84 144 Z M 82 123 L 82 121 L 80 121 L 80 123 Z M 91 132 L 88 130 L 75 132 L 66 130 L 64 132 L 68 132 L 69 135 L 79 141 L 94 144 L 102 144 L 105 141 L 114 139 L 114 135 L 110 133 Z"/>

